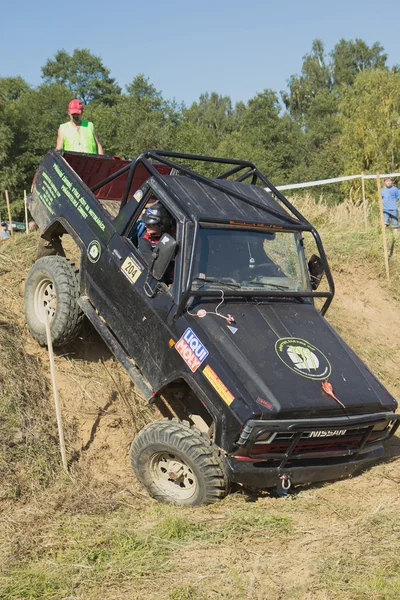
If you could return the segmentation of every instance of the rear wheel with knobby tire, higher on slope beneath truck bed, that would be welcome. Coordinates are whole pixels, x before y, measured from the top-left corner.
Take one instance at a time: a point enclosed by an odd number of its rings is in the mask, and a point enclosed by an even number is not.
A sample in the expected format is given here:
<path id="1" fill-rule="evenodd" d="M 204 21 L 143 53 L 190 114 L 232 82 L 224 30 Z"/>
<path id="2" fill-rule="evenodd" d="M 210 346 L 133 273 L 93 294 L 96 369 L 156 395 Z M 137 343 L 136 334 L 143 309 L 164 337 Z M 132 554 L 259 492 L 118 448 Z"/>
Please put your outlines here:
<path id="1" fill-rule="evenodd" d="M 62 346 L 78 334 L 84 316 L 77 302 L 78 272 L 66 258 L 39 258 L 29 271 L 25 282 L 25 320 L 33 339 L 41 346 L 47 345 L 41 306 L 50 299 L 49 292 L 53 302 L 49 318 L 51 338 L 54 346 Z"/>

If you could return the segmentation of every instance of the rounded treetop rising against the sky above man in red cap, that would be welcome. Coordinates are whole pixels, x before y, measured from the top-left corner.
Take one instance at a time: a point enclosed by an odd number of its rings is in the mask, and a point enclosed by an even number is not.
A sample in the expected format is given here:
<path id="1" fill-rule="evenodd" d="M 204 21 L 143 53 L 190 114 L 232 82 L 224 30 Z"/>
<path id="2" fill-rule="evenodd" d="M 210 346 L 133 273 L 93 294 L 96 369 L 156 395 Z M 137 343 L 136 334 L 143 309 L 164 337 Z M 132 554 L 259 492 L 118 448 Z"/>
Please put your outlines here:
<path id="1" fill-rule="evenodd" d="M 80 98 L 85 104 L 98 101 L 113 105 L 121 94 L 121 88 L 110 77 L 100 57 L 86 48 L 76 49 L 70 55 L 59 50 L 54 60 L 49 59 L 42 67 L 44 82 L 65 85 L 71 95 Z"/>

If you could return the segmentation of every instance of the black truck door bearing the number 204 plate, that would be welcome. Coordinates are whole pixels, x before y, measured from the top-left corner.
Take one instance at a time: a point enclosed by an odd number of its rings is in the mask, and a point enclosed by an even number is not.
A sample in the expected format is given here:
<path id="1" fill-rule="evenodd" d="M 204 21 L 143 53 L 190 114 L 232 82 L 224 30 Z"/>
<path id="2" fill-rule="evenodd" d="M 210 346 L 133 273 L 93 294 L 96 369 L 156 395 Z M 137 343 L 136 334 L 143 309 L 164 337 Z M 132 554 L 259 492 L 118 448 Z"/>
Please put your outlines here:
<path id="1" fill-rule="evenodd" d="M 127 222 L 124 235 L 115 232 L 111 237 L 96 267 L 91 300 L 135 364 L 157 388 L 167 377 L 165 356 L 171 338 L 167 318 L 174 299 L 168 286 L 151 277 L 130 239 L 134 225 L 133 220 Z"/>

